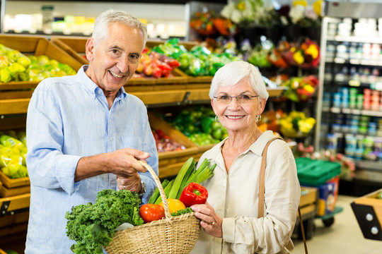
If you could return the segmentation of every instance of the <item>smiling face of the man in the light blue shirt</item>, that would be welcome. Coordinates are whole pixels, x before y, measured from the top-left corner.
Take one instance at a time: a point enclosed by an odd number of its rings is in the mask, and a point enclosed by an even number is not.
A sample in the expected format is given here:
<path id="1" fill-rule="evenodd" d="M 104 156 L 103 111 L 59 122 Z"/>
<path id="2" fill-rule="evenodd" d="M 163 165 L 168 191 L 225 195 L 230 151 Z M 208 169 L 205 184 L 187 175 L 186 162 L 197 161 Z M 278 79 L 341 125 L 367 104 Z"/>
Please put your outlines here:
<path id="1" fill-rule="evenodd" d="M 89 68 L 86 74 L 105 95 L 112 95 L 127 83 L 137 69 L 144 49 L 144 35 L 138 28 L 124 23 L 111 23 L 109 36 L 98 42 L 86 42 Z"/>

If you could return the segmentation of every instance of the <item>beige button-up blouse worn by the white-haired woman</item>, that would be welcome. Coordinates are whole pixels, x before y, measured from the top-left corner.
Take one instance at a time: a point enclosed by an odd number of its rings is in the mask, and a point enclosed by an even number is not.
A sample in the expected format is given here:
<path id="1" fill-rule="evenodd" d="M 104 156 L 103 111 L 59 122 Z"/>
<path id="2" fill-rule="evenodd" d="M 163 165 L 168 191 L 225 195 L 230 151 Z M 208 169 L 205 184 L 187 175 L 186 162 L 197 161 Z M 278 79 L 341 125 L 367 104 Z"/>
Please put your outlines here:
<path id="1" fill-rule="evenodd" d="M 262 150 L 272 131 L 265 131 L 250 148 L 239 155 L 226 173 L 221 143 L 204 152 L 216 163 L 214 176 L 202 183 L 216 214 L 223 219 L 223 239 L 201 230 L 192 253 L 293 253 L 291 234 L 296 222 L 301 190 L 296 162 L 282 140 L 274 140 L 267 151 L 265 172 L 265 217 L 257 219 L 259 172 Z"/>

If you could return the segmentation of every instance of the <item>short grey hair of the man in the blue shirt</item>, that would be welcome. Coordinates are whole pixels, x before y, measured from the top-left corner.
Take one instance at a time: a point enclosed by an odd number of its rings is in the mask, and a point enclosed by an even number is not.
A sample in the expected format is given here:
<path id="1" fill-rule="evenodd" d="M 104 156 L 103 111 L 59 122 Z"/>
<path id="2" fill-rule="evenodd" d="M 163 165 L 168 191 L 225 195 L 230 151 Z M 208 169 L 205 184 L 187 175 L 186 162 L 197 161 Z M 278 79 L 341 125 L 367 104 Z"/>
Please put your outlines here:
<path id="1" fill-rule="evenodd" d="M 130 25 L 134 28 L 138 28 L 144 35 L 144 44 L 147 41 L 147 27 L 138 18 L 125 13 L 124 11 L 119 11 L 115 9 L 110 9 L 96 18 L 93 28 L 93 35 L 91 36 L 94 40 L 94 44 L 97 47 L 99 42 L 108 39 L 109 37 L 109 25 L 110 23 L 121 22 L 126 25 Z M 129 35 L 126 35 L 129 36 Z"/>

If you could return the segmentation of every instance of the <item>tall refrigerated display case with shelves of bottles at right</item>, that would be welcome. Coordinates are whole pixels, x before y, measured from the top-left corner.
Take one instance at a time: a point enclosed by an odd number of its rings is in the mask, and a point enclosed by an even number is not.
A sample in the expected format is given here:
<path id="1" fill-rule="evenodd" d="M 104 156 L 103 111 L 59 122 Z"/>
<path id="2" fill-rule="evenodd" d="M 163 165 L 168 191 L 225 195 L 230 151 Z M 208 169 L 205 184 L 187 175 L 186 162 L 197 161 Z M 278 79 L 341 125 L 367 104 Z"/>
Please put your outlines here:
<path id="1" fill-rule="evenodd" d="M 382 1 L 325 1 L 316 150 L 354 159 L 351 181 L 382 184 Z"/>

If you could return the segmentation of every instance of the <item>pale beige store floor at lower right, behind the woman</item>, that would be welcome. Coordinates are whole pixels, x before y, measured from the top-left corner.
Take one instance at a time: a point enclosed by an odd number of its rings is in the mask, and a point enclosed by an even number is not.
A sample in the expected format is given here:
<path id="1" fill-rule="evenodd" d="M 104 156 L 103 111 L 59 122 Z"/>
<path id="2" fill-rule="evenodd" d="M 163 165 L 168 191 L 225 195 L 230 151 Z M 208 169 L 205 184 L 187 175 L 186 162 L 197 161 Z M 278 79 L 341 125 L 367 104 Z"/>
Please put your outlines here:
<path id="1" fill-rule="evenodd" d="M 320 219 L 315 220 L 316 231 L 308 240 L 309 254 L 381 254 L 382 241 L 364 238 L 354 216 L 350 203 L 355 197 L 339 195 L 337 206 L 343 211 L 335 215 L 335 222 L 330 227 L 323 226 Z M 295 253 L 303 254 L 303 242 L 293 239 Z"/>

